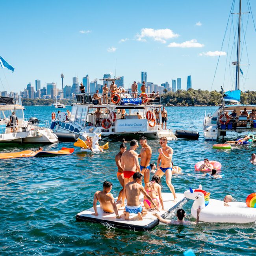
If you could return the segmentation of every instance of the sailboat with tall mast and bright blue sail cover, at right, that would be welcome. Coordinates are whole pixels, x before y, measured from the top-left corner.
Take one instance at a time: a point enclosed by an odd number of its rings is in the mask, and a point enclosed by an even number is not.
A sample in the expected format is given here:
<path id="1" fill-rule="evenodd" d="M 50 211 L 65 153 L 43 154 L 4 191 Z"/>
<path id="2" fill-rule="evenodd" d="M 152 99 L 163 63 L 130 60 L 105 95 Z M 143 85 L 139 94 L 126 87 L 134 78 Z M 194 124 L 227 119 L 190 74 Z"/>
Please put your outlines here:
<path id="1" fill-rule="evenodd" d="M 227 132 L 249 132 L 253 138 L 256 132 L 256 104 L 240 104 L 240 73 L 243 74 L 240 66 L 241 52 L 241 5 L 239 0 L 238 33 L 237 33 L 237 51 L 236 61 L 232 65 L 236 66 L 236 89 L 234 91 L 222 91 L 222 105 L 213 113 L 213 115 L 204 116 L 203 130 L 206 140 L 217 140 L 220 136 L 226 136 Z M 232 105 L 226 105 L 225 102 L 234 102 Z"/>

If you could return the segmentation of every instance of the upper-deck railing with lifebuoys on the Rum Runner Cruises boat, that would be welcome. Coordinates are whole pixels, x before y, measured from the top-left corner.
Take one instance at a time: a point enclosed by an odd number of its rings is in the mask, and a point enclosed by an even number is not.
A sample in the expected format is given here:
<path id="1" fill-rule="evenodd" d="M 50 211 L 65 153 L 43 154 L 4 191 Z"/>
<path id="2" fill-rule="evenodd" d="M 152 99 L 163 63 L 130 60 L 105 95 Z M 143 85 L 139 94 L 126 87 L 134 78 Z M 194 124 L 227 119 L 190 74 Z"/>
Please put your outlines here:
<path id="1" fill-rule="evenodd" d="M 99 105 L 100 103 L 106 102 L 103 93 L 98 93 L 99 99 L 93 99 L 95 93 L 79 93 L 76 94 L 76 104 L 81 105 Z M 137 96 L 137 97 L 136 97 Z M 122 99 L 131 100 L 131 105 L 150 105 L 150 104 L 161 104 L 161 95 L 158 93 L 108 93 L 108 104 L 121 105 Z M 136 101 L 137 100 L 137 101 Z M 129 102 L 125 103 L 129 105 Z"/>

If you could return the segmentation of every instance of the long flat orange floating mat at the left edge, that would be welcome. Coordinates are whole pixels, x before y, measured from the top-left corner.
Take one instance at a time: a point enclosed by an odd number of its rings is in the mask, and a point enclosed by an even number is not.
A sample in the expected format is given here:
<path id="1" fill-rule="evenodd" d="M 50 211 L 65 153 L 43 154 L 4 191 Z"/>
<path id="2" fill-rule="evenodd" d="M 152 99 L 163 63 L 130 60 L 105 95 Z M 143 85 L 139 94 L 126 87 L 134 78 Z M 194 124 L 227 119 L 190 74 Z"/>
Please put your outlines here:
<path id="1" fill-rule="evenodd" d="M 22 158 L 22 157 L 32 157 L 32 156 L 49 156 L 49 155 L 70 155 L 74 152 L 74 148 L 61 148 L 58 151 L 33 151 L 24 150 L 20 152 L 9 152 L 0 153 L 0 159 L 10 159 L 10 158 Z"/>

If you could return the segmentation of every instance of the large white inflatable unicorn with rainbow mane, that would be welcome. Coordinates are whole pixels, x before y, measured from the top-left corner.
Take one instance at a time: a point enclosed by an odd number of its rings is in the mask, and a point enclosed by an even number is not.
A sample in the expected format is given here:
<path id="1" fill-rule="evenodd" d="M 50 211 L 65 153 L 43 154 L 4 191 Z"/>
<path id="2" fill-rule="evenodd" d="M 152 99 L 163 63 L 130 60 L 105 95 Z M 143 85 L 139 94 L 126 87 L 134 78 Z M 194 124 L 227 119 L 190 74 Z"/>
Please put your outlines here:
<path id="1" fill-rule="evenodd" d="M 224 206 L 221 200 L 211 199 L 210 193 L 198 189 L 184 192 L 184 196 L 195 200 L 191 207 L 191 214 L 197 217 L 197 209 L 201 207 L 199 220 L 208 223 L 250 223 L 256 221 L 256 208 L 247 207 L 245 202 L 229 202 L 230 207 Z"/>

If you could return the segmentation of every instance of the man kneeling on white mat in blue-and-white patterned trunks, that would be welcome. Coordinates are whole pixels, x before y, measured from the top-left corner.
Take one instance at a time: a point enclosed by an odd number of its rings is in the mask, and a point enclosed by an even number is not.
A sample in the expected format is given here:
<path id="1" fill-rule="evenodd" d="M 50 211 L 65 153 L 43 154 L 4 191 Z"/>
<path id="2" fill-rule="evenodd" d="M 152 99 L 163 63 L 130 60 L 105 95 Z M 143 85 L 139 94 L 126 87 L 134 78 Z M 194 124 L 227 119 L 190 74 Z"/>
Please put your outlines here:
<path id="1" fill-rule="evenodd" d="M 141 185 L 142 182 L 142 174 L 139 172 L 135 172 L 132 176 L 132 182 L 126 184 L 124 193 L 126 194 L 127 204 L 124 210 L 125 219 L 128 221 L 130 217 L 130 213 L 137 213 L 138 218 L 141 221 L 142 216 L 147 214 L 147 210 L 142 208 L 141 202 L 139 201 L 139 195 L 142 193 L 148 201 L 155 207 L 156 211 L 159 211 L 158 206 L 154 203 L 152 198 L 147 194 L 144 187 Z"/>

